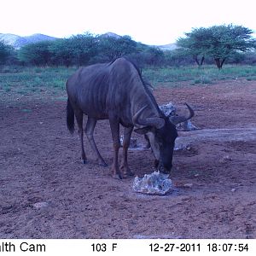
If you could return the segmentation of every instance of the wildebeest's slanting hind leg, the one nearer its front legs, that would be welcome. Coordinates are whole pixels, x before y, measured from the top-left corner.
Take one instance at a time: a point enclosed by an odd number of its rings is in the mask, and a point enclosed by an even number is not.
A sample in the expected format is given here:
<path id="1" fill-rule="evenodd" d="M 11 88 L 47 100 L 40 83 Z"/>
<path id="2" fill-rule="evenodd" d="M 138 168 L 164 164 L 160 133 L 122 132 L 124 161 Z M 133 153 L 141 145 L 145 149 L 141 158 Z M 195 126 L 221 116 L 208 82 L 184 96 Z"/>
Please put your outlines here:
<path id="1" fill-rule="evenodd" d="M 102 155 L 100 154 L 100 152 L 99 152 L 99 150 L 98 150 L 98 148 L 96 146 L 96 143 L 94 141 L 93 131 L 95 129 L 95 126 L 96 126 L 96 119 L 88 117 L 88 120 L 87 120 L 87 123 L 86 123 L 86 126 L 85 126 L 85 134 L 86 134 L 86 136 L 87 136 L 87 138 L 89 140 L 91 148 L 96 152 L 98 163 L 101 166 L 106 167 L 108 165 L 103 160 Z"/>

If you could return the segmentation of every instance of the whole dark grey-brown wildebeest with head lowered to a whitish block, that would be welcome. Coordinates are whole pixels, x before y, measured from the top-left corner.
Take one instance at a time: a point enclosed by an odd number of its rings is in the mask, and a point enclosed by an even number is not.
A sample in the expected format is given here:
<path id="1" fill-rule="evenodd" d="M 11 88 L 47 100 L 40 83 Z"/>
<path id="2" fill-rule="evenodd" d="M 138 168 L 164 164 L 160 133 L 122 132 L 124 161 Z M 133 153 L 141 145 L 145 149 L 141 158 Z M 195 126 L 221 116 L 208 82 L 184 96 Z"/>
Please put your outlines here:
<path id="1" fill-rule="evenodd" d="M 172 154 L 177 137 L 176 124 L 190 119 L 194 114 L 189 108 L 188 117 L 170 119 L 160 111 L 148 83 L 142 78 L 137 66 L 126 58 L 119 58 L 108 64 L 95 64 L 81 67 L 67 80 L 67 128 L 73 132 L 74 116 L 79 127 L 84 154 L 83 116 L 88 116 L 85 134 L 90 146 L 96 152 L 97 160 L 107 166 L 99 153 L 93 138 L 98 119 L 108 119 L 113 137 L 113 177 L 121 178 L 118 165 L 119 124 L 125 127 L 123 158 L 120 169 L 124 175 L 133 175 L 127 162 L 127 151 L 131 132 L 148 134 L 154 157 L 158 161 L 160 172 L 169 172 L 172 168 Z"/>

